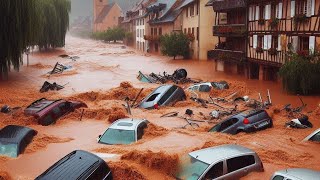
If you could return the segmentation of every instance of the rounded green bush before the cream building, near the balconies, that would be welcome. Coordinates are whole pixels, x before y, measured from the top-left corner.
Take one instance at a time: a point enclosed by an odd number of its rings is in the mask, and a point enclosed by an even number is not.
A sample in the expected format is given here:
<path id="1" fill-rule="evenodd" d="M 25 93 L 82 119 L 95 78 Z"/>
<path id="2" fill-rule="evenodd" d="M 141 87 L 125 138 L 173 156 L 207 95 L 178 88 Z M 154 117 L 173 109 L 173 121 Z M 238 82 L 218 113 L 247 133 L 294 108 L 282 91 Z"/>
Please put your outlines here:
<path id="1" fill-rule="evenodd" d="M 186 59 L 190 55 L 190 39 L 182 32 L 173 32 L 161 36 L 160 44 L 162 54 L 173 57 L 173 59 L 176 56 L 183 56 Z"/>

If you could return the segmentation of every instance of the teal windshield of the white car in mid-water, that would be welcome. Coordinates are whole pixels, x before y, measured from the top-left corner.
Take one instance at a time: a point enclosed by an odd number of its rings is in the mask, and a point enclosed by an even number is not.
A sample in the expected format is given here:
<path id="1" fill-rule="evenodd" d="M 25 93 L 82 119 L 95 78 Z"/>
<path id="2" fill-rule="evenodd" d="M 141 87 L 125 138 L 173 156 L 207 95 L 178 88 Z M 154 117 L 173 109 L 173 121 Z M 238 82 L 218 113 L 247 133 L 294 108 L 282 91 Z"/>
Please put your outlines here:
<path id="1" fill-rule="evenodd" d="M 104 144 L 131 144 L 135 142 L 135 131 L 109 128 L 100 138 Z"/>

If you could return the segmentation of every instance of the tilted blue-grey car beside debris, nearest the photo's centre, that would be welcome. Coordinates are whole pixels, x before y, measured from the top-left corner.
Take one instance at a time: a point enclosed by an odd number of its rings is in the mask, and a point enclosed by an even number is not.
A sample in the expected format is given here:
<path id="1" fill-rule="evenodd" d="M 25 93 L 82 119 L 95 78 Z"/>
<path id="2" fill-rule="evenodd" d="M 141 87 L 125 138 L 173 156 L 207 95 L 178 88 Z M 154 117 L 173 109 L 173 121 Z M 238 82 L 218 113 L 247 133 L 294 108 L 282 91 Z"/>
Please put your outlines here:
<path id="1" fill-rule="evenodd" d="M 139 107 L 144 109 L 157 109 L 160 106 L 173 105 L 185 99 L 186 94 L 181 87 L 176 85 L 163 85 L 144 98 Z"/>

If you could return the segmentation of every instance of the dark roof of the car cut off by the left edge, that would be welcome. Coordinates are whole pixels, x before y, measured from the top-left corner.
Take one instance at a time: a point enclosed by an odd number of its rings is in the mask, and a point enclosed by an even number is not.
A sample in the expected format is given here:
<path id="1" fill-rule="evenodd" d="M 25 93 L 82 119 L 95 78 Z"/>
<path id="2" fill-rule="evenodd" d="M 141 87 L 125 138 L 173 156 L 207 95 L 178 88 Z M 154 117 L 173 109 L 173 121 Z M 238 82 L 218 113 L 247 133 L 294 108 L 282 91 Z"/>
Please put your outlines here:
<path id="1" fill-rule="evenodd" d="M 0 130 L 0 142 L 7 144 L 20 144 L 28 134 L 35 133 L 35 130 L 28 127 L 8 125 Z"/>

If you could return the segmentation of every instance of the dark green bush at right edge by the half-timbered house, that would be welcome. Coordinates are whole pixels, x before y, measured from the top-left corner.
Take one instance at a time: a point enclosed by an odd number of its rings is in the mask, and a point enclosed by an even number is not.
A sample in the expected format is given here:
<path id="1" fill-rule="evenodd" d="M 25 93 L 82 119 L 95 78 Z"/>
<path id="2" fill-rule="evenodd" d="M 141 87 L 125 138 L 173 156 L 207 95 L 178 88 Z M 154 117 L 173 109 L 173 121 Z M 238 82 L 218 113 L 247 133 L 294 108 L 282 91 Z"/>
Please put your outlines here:
<path id="1" fill-rule="evenodd" d="M 285 90 L 295 94 L 320 93 L 320 54 L 290 53 L 279 71 Z"/>

